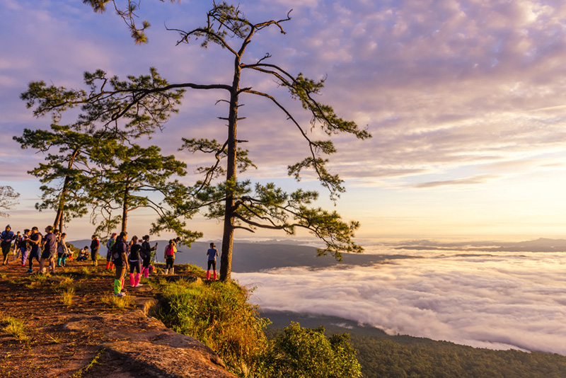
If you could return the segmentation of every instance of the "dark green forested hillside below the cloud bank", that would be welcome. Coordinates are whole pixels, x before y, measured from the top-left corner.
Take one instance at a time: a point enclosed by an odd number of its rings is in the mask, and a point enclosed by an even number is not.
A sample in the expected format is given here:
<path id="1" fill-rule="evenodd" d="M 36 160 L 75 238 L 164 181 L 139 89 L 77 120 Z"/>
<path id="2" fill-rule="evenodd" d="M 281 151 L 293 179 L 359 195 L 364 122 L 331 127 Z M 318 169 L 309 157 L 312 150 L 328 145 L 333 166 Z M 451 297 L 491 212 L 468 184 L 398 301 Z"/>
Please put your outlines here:
<path id="1" fill-rule="evenodd" d="M 289 321 L 301 326 L 324 326 L 327 336 L 349 333 L 350 344 L 366 378 L 564 378 L 566 356 L 519 350 L 472 348 L 429 338 L 389 336 L 378 328 L 359 326 L 333 316 L 267 311 L 273 337 Z"/>

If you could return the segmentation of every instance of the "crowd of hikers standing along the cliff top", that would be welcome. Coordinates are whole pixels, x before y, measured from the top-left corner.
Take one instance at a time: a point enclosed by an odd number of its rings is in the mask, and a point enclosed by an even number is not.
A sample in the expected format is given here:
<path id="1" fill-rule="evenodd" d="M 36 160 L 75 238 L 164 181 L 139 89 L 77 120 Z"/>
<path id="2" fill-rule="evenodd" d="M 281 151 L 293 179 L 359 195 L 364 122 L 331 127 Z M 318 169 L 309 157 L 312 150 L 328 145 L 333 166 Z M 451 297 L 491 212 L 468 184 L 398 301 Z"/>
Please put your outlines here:
<path id="1" fill-rule="evenodd" d="M 67 246 L 65 241 L 67 234 L 54 229 L 52 226 L 45 227 L 45 234 L 42 234 L 37 227 L 24 229 L 23 234 L 18 231 L 16 234 L 11 230 L 10 225 L 0 234 L 0 247 L 4 256 L 3 264 L 8 265 L 8 256 L 13 251 L 13 261 L 18 260 L 21 266 L 25 267 L 28 263 L 28 273 L 33 273 L 33 260 L 39 263 L 38 273 L 45 274 L 47 268 L 50 273 L 55 273 L 56 267 L 65 267 L 69 260 L 73 260 L 73 251 Z M 163 254 L 166 262 L 165 274 L 175 273 L 175 253 L 180 238 L 171 239 L 168 242 Z M 149 277 L 149 273 L 154 270 L 151 265 L 151 257 L 157 250 L 157 243 L 154 246 L 149 244 L 149 235 L 141 238 L 141 244 L 137 236 L 133 236 L 128 241 L 126 231 L 112 233 L 106 242 L 106 269 L 115 269 L 114 294 L 117 297 L 125 295 L 125 277 L 129 270 L 129 284 L 131 287 L 141 286 L 139 283 L 141 275 Z M 91 237 L 90 253 L 88 246 L 79 250 L 76 261 L 86 261 L 91 258 L 94 266 L 98 265 L 98 249 L 100 241 L 96 235 Z M 210 244 L 207 251 L 207 280 L 210 279 L 210 268 L 213 270 L 213 279 L 216 280 L 216 257 L 219 256 L 214 243 Z M 47 265 L 47 266 L 46 266 Z"/>

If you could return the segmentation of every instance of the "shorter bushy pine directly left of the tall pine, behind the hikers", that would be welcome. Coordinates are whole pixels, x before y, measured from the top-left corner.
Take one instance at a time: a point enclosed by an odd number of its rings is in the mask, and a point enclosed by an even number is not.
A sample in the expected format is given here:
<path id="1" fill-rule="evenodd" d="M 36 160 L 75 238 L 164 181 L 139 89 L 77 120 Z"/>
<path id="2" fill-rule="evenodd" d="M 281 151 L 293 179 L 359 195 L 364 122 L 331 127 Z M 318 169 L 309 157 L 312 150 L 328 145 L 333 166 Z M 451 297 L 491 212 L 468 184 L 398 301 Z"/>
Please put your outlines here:
<path id="1" fill-rule="evenodd" d="M 176 160 L 173 155 L 161 155 L 161 149 L 156 146 L 107 147 L 92 156 L 97 168 L 92 172 L 93 183 L 89 193 L 95 200 L 93 213 L 103 216 L 97 231 L 110 232 L 118 224 L 121 224 L 122 231 L 127 231 L 129 212 L 143 207 L 158 214 L 154 232 L 175 231 L 187 244 L 202 236 L 186 229 L 185 222 L 166 217 L 171 206 L 178 204 L 178 193 L 186 192 L 184 185 L 170 180 L 173 175 L 185 176 L 185 163 Z M 121 214 L 115 216 L 115 210 L 120 210 Z"/>

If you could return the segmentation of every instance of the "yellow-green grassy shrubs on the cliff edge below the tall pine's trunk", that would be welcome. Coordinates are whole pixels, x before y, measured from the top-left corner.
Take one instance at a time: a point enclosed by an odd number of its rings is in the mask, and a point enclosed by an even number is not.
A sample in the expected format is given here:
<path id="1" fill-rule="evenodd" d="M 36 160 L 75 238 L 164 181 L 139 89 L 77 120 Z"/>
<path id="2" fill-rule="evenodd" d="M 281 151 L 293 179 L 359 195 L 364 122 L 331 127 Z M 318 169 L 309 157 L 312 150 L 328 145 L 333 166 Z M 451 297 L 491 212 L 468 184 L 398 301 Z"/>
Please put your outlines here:
<path id="1" fill-rule="evenodd" d="M 253 374 L 267 345 L 257 307 L 247 302 L 249 292 L 233 282 L 179 280 L 162 287 L 163 323 L 179 333 L 197 338 L 212 348 L 235 374 Z"/>

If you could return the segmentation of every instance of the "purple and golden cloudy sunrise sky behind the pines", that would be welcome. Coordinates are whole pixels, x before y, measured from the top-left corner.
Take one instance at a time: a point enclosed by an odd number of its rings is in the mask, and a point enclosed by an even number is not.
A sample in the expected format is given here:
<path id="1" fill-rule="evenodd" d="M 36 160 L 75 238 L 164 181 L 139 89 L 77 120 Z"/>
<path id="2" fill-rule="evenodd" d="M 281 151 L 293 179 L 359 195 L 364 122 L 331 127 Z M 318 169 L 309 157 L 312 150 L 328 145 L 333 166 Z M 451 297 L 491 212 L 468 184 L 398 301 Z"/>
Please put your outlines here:
<path id="1" fill-rule="evenodd" d="M 118 4 L 123 4 L 118 1 Z M 199 42 L 176 45 L 168 28 L 204 25 L 212 2 L 146 0 L 139 20 L 151 23 L 149 43 L 134 45 L 112 11 L 94 13 L 75 0 L 0 2 L 0 185 L 21 193 L 5 219 L 13 229 L 38 213 L 40 183 L 26 171 L 43 156 L 23 150 L 13 135 L 47 128 L 19 98 L 30 81 L 79 88 L 84 71 L 103 69 L 121 78 L 156 67 L 171 83 L 231 81 L 231 56 Z M 285 18 L 253 40 L 246 62 L 266 52 L 268 62 L 313 79 L 326 78 L 320 101 L 367 127 L 372 139 L 336 137 L 331 173 L 345 180 L 335 205 L 356 219 L 365 238 L 534 239 L 563 237 L 566 228 L 566 6 L 529 0 L 242 0 L 253 22 Z M 244 76 L 244 85 L 281 98 L 308 129 L 308 114 L 271 79 Z M 189 166 L 198 156 L 177 151 L 181 137 L 224 140 L 223 93 L 189 91 L 163 132 L 151 139 Z M 238 137 L 258 169 L 246 177 L 286 190 L 316 189 L 306 175 L 287 177 L 287 166 L 306 156 L 306 144 L 284 115 L 257 98 L 242 98 Z M 216 105 L 215 105 L 216 104 Z M 67 115 L 69 123 L 76 114 Z M 317 130 L 313 130 L 315 134 Z M 149 143 L 149 142 L 148 142 Z M 188 179 L 188 178 L 187 178 Z M 143 233 L 149 212 L 132 213 Z M 195 219 L 205 237 L 221 225 Z M 129 227 L 129 229 L 130 229 Z M 94 227 L 88 217 L 69 226 L 70 239 Z M 68 232 L 69 234 L 69 232 Z M 258 233 L 257 236 L 271 234 Z M 236 239 L 253 235 L 238 231 Z M 282 237 L 282 234 L 274 234 Z"/>

